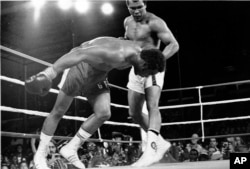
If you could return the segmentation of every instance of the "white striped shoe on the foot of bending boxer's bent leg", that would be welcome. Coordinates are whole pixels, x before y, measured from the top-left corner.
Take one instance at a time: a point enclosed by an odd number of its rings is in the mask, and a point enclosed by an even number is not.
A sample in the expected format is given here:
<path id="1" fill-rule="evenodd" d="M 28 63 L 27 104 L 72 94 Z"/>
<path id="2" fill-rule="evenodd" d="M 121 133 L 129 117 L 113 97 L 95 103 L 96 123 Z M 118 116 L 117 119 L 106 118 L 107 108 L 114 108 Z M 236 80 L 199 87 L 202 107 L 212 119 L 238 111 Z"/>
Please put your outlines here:
<path id="1" fill-rule="evenodd" d="M 78 158 L 77 151 L 73 150 L 72 148 L 68 148 L 67 145 L 65 145 L 61 148 L 59 153 L 76 168 L 85 169 L 85 165 Z"/>

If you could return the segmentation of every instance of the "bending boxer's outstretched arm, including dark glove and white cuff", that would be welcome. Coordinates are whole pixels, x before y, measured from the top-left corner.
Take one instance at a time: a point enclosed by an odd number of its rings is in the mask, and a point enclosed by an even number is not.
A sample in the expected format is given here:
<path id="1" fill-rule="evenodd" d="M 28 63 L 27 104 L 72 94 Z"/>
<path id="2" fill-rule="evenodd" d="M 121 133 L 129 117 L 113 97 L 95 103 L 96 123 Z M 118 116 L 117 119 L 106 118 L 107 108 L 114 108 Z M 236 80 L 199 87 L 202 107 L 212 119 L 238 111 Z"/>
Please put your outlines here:
<path id="1" fill-rule="evenodd" d="M 31 94 L 45 96 L 52 86 L 52 80 L 58 73 L 61 73 L 63 70 L 77 65 L 82 61 L 93 64 L 103 63 L 104 58 L 108 58 L 108 51 L 112 50 L 95 46 L 88 48 L 74 48 L 71 52 L 58 59 L 52 67 L 48 67 L 44 71 L 25 80 L 26 91 Z M 108 62 L 107 59 L 106 62 Z"/>

